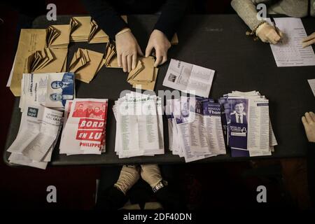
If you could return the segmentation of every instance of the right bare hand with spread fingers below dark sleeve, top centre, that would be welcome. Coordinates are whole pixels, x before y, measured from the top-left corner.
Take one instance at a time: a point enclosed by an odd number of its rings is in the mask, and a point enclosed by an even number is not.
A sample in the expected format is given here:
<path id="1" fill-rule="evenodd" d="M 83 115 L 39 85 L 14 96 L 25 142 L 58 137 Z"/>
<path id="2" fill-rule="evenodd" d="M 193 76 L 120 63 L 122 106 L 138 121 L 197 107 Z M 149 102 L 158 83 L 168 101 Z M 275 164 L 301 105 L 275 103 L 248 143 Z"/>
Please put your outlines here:
<path id="1" fill-rule="evenodd" d="M 169 50 L 170 47 L 171 43 L 167 39 L 167 36 L 165 36 L 162 31 L 155 29 L 153 30 L 146 47 L 146 57 L 151 54 L 154 48 L 156 57 L 154 66 L 157 67 L 167 61 L 167 50 Z"/>

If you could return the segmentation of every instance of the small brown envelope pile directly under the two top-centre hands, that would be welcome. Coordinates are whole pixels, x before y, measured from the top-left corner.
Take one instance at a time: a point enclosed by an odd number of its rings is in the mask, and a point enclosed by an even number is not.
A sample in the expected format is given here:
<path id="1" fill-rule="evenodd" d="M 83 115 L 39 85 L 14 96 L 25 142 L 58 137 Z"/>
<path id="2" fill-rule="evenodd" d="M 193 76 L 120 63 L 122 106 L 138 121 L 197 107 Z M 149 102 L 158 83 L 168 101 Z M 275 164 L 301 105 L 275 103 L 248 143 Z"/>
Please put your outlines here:
<path id="1" fill-rule="evenodd" d="M 134 88 L 154 90 L 158 70 L 154 67 L 154 57 L 140 57 L 136 68 L 128 74 L 127 82 Z"/>

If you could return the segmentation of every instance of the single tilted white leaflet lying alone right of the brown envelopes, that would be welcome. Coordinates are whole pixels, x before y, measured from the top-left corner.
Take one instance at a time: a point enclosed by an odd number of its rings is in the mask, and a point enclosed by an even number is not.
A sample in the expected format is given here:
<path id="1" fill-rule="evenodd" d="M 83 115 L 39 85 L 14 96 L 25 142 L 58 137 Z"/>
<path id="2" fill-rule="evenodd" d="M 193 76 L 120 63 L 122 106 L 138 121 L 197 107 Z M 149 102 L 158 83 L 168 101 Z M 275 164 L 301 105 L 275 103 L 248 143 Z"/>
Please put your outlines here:
<path id="1" fill-rule="evenodd" d="M 214 70 L 171 59 L 163 85 L 200 97 L 209 97 Z"/>

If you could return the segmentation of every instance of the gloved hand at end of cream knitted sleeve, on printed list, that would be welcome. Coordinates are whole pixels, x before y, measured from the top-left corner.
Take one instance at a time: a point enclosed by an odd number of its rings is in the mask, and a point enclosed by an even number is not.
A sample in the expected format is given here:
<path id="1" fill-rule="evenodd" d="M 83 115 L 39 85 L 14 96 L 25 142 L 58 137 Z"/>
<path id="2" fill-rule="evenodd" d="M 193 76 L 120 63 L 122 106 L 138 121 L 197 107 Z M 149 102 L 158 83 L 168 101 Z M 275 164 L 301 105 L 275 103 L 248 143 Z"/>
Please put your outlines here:
<path id="1" fill-rule="evenodd" d="M 278 31 L 280 35 L 276 33 L 272 25 L 265 22 L 256 29 L 256 35 L 262 42 L 276 44 L 283 38 L 283 33 L 280 30 Z"/>

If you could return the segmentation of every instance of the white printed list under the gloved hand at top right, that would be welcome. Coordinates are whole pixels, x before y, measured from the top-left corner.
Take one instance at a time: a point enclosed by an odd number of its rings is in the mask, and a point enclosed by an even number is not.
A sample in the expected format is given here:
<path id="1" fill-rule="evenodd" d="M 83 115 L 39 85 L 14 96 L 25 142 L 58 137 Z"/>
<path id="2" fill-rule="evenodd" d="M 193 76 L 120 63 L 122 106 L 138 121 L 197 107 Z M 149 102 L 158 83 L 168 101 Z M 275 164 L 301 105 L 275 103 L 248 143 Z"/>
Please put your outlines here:
<path id="1" fill-rule="evenodd" d="M 269 23 L 270 20 L 267 19 Z M 285 35 L 282 43 L 270 44 L 276 66 L 314 66 L 315 54 L 311 46 L 302 48 L 307 33 L 300 18 L 274 18 L 276 27 Z"/>

